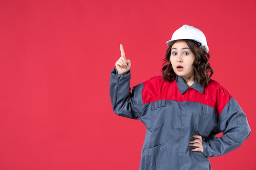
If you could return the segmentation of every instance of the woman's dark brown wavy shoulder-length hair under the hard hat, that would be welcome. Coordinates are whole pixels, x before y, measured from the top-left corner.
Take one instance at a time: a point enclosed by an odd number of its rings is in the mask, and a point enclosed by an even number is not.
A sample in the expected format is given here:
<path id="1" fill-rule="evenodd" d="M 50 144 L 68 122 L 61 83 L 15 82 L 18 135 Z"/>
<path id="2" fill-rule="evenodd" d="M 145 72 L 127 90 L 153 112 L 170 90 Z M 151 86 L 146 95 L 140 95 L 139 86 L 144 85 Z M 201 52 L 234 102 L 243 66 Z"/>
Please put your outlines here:
<path id="1" fill-rule="evenodd" d="M 162 76 L 163 79 L 168 82 L 173 82 L 177 77 L 170 62 L 171 47 L 176 41 L 173 41 L 171 42 L 171 44 L 169 44 L 162 64 Z M 189 49 L 192 51 L 192 53 L 195 55 L 195 61 L 193 62 L 195 80 L 205 87 L 207 86 L 211 79 L 211 76 L 213 75 L 213 69 L 208 63 L 210 55 L 202 48 L 200 48 L 193 40 L 184 41 L 189 46 Z"/>

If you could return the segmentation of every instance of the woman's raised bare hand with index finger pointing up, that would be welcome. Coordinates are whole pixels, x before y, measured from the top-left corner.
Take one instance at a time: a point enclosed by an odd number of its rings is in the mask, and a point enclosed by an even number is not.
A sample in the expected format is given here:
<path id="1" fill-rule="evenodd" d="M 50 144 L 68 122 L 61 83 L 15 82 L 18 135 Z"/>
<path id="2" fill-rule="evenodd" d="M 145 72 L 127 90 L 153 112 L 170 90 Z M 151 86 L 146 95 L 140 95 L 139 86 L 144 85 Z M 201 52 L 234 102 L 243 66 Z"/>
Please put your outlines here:
<path id="1" fill-rule="evenodd" d="M 125 53 L 124 53 L 124 47 L 122 44 L 120 44 L 120 52 L 121 52 L 121 57 L 119 58 L 119 60 L 117 60 L 115 65 L 116 65 L 118 74 L 126 75 L 130 70 L 130 67 L 132 64 L 130 60 L 126 59 Z"/>

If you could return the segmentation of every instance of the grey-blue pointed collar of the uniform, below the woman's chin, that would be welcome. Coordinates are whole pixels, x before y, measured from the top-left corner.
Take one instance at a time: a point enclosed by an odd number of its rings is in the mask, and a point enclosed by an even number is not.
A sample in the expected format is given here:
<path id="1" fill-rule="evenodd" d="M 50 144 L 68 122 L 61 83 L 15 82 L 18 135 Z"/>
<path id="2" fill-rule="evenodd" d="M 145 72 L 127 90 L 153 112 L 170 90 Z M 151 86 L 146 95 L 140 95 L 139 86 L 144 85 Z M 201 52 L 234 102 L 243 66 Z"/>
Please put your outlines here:
<path id="1" fill-rule="evenodd" d="M 186 84 L 186 82 L 180 76 L 177 76 L 176 84 L 177 84 L 181 94 L 185 93 L 185 91 L 189 88 L 189 86 Z M 201 84 L 198 84 L 198 82 L 196 80 L 192 84 L 191 88 L 199 91 L 200 93 L 204 93 L 204 86 L 202 86 Z"/>

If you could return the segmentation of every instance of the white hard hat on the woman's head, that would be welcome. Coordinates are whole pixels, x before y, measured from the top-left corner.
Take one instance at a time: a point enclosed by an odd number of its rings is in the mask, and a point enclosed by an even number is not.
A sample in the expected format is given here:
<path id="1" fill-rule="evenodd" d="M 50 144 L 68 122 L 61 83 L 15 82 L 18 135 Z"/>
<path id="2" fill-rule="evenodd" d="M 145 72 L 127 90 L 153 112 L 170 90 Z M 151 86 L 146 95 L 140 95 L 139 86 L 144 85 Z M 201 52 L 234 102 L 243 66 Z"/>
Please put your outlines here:
<path id="1" fill-rule="evenodd" d="M 177 29 L 171 38 L 171 40 L 167 41 L 166 44 L 169 46 L 174 40 L 194 40 L 199 42 L 200 47 L 204 49 L 207 53 L 209 51 L 209 47 L 207 46 L 207 41 L 204 33 L 193 26 L 183 25 L 179 29 Z"/>

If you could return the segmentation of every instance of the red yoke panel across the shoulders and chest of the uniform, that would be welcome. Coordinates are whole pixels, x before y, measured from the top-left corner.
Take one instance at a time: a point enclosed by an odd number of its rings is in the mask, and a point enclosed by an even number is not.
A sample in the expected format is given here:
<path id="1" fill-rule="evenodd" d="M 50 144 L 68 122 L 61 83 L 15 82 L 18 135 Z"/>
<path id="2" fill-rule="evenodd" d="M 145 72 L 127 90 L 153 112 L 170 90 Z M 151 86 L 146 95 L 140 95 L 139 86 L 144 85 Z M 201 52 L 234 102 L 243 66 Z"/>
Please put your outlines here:
<path id="1" fill-rule="evenodd" d="M 176 81 L 167 82 L 162 79 L 162 76 L 155 76 L 144 82 L 142 90 L 143 104 L 156 102 L 159 99 L 198 102 L 213 107 L 219 114 L 231 98 L 228 91 L 214 80 L 211 80 L 204 88 L 204 93 L 189 87 L 184 94 L 181 94 Z"/>

